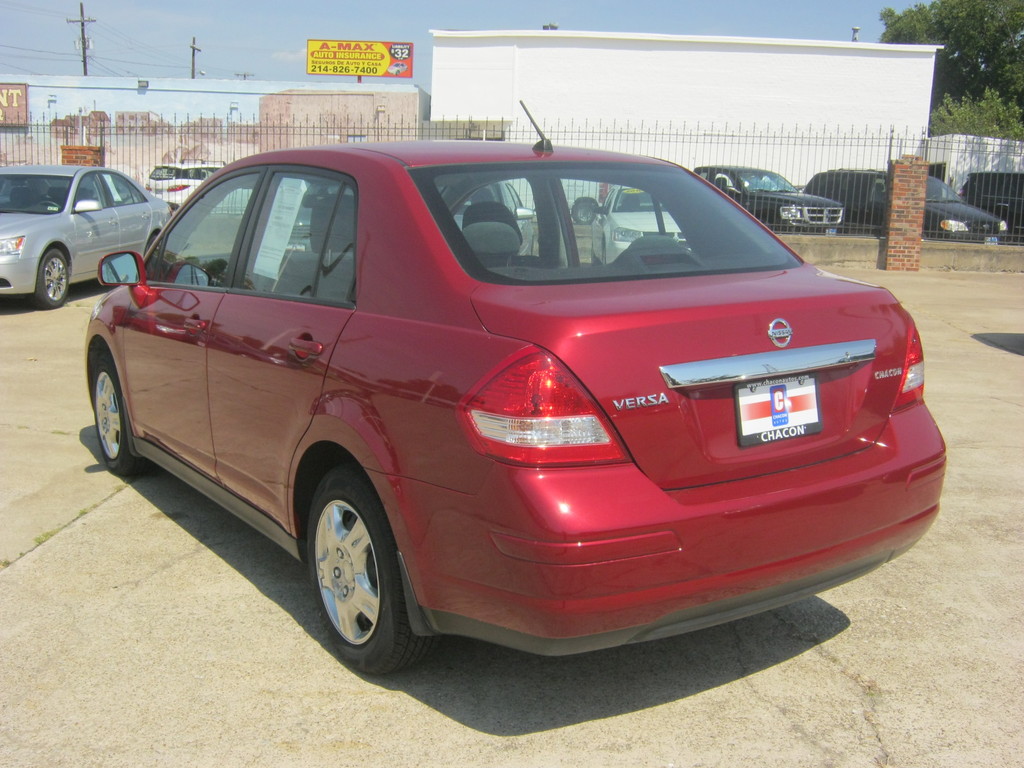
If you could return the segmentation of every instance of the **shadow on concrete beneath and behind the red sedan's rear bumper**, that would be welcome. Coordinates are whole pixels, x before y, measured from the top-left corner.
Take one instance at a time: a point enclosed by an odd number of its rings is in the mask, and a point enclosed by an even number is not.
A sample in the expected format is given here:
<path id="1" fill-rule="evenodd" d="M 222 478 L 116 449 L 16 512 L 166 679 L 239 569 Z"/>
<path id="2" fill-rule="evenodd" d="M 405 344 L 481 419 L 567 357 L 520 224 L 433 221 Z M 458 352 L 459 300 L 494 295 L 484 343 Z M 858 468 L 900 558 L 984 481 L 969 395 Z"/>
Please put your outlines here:
<path id="1" fill-rule="evenodd" d="M 419 666 L 376 681 L 496 736 L 640 712 L 801 655 L 850 626 L 818 597 L 726 625 L 573 656 L 536 656 L 445 638 Z"/>

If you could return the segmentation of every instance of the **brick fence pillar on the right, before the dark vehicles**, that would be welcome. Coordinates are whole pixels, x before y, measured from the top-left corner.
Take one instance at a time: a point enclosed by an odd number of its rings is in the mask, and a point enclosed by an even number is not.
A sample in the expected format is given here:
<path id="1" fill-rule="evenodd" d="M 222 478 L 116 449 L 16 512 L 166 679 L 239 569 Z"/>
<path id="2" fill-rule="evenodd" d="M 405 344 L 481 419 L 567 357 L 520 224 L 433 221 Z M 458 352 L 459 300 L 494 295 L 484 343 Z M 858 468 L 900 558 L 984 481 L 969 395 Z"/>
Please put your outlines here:
<path id="1" fill-rule="evenodd" d="M 915 272 L 921 269 L 928 163 L 914 155 L 904 155 L 890 165 L 886 269 Z"/>

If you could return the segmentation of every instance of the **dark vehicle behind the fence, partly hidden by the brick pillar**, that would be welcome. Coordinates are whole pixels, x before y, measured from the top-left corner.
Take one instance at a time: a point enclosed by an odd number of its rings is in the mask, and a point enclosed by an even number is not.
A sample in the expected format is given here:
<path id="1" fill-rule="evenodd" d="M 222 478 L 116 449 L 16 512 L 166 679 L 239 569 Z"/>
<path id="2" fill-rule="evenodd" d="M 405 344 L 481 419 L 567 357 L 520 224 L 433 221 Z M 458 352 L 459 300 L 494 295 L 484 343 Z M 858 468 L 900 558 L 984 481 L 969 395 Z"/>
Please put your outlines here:
<path id="1" fill-rule="evenodd" d="M 886 224 L 889 174 L 885 171 L 835 170 L 816 173 L 804 190 L 843 201 L 849 233 L 882 234 Z M 925 195 L 924 237 L 933 240 L 996 242 L 1007 224 L 968 205 L 944 181 L 929 176 Z"/>

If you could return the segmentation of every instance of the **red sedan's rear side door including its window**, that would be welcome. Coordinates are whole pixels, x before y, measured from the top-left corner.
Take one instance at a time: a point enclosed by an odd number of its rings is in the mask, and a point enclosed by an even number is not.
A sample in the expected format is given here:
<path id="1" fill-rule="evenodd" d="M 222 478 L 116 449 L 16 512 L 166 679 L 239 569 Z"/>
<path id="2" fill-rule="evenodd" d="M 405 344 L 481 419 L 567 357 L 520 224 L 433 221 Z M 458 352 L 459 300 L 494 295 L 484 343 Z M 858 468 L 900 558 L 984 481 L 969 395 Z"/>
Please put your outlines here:
<path id="1" fill-rule="evenodd" d="M 292 456 L 353 311 L 356 189 L 295 168 L 266 189 L 210 333 L 210 421 L 220 480 L 284 523 Z"/>

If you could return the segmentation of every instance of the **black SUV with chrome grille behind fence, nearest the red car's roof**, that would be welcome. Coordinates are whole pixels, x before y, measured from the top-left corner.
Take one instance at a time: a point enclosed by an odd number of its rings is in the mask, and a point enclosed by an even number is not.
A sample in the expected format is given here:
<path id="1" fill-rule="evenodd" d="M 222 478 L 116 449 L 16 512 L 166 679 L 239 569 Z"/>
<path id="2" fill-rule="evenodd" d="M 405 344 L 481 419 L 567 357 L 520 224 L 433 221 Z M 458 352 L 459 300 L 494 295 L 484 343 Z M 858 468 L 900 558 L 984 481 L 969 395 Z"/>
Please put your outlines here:
<path id="1" fill-rule="evenodd" d="M 801 193 L 774 171 L 714 165 L 694 168 L 693 172 L 776 232 L 835 233 L 843 221 L 842 203 Z"/>

